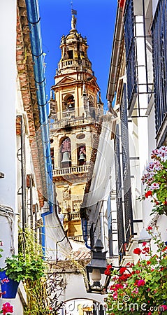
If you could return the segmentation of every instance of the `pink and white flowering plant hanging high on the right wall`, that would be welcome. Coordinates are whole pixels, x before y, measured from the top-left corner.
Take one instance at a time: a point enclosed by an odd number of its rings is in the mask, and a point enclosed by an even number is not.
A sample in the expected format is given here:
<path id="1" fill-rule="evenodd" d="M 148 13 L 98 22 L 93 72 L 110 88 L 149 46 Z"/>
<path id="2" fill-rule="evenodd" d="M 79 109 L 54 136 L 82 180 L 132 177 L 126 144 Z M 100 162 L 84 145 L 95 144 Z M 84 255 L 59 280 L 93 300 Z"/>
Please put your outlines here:
<path id="1" fill-rule="evenodd" d="M 153 203 L 152 213 L 167 216 L 167 147 L 153 150 L 152 162 L 146 167 L 142 182 L 145 184 L 145 194 L 139 198 L 150 198 Z"/>

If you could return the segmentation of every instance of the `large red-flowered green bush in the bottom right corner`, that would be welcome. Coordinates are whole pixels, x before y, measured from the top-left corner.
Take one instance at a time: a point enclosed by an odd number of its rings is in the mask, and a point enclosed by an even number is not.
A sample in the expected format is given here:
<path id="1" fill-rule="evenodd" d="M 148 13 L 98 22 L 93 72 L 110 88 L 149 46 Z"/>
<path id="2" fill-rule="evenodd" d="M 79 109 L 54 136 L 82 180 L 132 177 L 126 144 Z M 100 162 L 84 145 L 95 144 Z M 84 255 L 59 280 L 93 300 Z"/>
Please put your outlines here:
<path id="1" fill-rule="evenodd" d="M 139 258 L 143 253 L 145 259 L 112 272 L 110 293 L 106 298 L 108 314 L 155 315 L 167 310 L 167 246 L 152 232 L 150 234 L 157 244 L 157 254 L 143 243 L 143 248 L 136 248 L 133 253 Z"/>

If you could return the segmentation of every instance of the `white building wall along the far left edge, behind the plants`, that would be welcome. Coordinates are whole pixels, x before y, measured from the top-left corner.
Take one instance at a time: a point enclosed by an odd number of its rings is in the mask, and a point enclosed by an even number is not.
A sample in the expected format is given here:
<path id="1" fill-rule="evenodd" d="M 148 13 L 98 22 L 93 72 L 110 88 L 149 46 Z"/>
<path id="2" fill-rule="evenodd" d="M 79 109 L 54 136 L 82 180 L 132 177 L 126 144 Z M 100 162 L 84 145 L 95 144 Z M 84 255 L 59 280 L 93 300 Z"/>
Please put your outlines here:
<path id="1" fill-rule="evenodd" d="M 16 118 L 16 0 L 2 0 L 0 3 L 0 240 L 3 241 L 4 259 L 13 253 L 15 235 L 17 235 L 17 145 L 15 132 Z M 24 289 L 21 288 L 22 297 Z M 10 302 L 14 306 L 15 315 L 23 314 L 20 295 L 12 300 L 0 298 L 0 309 L 3 303 Z"/>

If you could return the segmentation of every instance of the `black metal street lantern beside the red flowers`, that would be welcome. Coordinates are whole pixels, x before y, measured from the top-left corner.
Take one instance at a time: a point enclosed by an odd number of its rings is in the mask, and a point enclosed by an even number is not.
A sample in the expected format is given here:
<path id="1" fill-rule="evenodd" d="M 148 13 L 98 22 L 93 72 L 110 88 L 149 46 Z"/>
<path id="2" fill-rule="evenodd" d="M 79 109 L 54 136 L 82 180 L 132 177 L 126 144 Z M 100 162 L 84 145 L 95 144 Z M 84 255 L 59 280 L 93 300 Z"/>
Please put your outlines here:
<path id="1" fill-rule="evenodd" d="M 103 294 L 107 292 L 110 276 L 104 274 L 108 264 L 106 260 L 107 251 L 102 252 L 103 244 L 101 239 L 96 240 L 92 250 L 92 260 L 86 266 L 88 288 L 87 293 Z"/>

